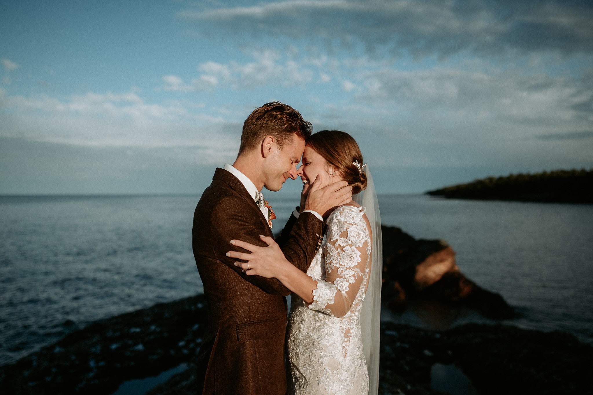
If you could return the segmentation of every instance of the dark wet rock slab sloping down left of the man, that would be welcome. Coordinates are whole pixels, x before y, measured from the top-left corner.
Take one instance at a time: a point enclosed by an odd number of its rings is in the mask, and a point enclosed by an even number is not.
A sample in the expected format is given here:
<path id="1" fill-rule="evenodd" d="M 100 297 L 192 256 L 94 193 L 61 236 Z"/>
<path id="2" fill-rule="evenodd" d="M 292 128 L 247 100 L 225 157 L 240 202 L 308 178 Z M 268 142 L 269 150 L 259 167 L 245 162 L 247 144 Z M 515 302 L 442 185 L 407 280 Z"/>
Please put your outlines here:
<path id="1" fill-rule="evenodd" d="M 205 329 L 203 295 L 95 322 L 0 367 L 4 394 L 110 394 L 123 381 L 189 362 Z"/>

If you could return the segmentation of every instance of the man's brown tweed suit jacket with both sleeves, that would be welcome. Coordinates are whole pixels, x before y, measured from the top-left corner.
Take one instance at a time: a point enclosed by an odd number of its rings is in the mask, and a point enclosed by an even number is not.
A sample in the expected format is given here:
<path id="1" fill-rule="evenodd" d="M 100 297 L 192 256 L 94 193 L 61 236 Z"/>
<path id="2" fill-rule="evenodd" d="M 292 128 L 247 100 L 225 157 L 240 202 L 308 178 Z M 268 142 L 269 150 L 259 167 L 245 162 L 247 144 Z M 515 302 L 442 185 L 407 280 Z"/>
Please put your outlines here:
<path id="1" fill-rule="evenodd" d="M 197 204 L 193 253 L 208 300 L 208 335 L 199 352 L 203 394 L 286 393 L 284 344 L 290 291 L 275 278 L 247 276 L 227 251 L 239 239 L 266 246 L 272 236 L 262 211 L 230 172 L 216 169 Z M 311 213 L 291 216 L 277 241 L 288 261 L 306 271 L 321 242 L 323 222 Z"/>

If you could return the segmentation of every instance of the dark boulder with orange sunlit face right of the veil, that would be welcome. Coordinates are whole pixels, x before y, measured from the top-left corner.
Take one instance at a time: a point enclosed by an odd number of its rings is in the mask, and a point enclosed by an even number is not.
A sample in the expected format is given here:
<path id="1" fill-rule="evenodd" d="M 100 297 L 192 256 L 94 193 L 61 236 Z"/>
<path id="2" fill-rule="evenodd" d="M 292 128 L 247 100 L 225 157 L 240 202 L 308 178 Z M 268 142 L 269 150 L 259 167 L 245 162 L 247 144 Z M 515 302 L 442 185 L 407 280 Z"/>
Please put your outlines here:
<path id="1" fill-rule="evenodd" d="M 381 298 L 394 311 L 413 299 L 429 298 L 476 309 L 491 319 L 515 316 L 499 294 L 484 290 L 460 272 L 455 251 L 444 240 L 416 240 L 398 227 L 382 227 Z"/>

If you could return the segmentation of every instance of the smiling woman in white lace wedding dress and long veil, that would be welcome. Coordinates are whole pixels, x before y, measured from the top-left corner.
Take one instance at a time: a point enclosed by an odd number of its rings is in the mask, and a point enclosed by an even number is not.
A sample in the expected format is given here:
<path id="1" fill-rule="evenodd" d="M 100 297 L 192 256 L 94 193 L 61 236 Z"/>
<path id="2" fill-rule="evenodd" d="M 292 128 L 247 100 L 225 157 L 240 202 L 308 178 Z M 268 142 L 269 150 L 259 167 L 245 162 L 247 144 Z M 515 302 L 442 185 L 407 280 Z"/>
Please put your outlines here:
<path id="1" fill-rule="evenodd" d="M 287 344 L 294 395 L 378 393 L 381 220 L 363 163 L 358 144 L 343 131 L 323 130 L 307 141 L 298 169 L 301 207 L 308 192 L 341 179 L 355 194 L 352 203 L 327 213 L 323 242 L 307 274 L 285 259 L 271 237 L 262 236 L 267 248 L 231 241 L 251 251 L 234 252 L 247 261 L 235 265 L 248 275 L 278 278 L 292 291 Z"/>

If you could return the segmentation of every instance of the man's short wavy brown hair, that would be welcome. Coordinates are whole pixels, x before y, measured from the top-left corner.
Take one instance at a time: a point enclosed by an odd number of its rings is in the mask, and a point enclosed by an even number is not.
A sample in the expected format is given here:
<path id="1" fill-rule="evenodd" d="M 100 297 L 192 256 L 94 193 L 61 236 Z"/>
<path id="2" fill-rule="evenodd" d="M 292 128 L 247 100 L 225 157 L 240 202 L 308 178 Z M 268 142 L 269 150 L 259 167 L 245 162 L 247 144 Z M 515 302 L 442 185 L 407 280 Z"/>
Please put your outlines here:
<path id="1" fill-rule="evenodd" d="M 253 110 L 245 120 L 239 155 L 257 149 L 266 136 L 273 136 L 280 149 L 293 133 L 306 141 L 311 136 L 311 129 L 311 123 L 291 106 L 279 101 L 266 103 Z"/>

